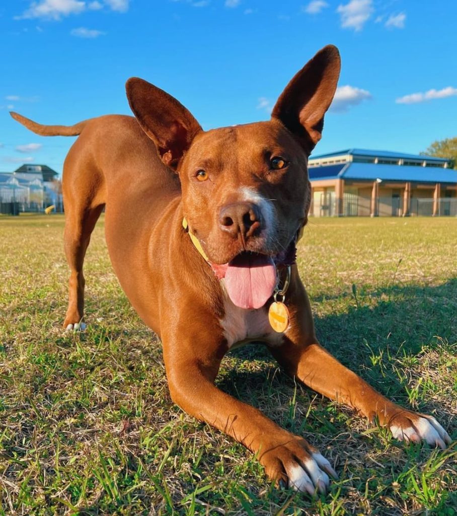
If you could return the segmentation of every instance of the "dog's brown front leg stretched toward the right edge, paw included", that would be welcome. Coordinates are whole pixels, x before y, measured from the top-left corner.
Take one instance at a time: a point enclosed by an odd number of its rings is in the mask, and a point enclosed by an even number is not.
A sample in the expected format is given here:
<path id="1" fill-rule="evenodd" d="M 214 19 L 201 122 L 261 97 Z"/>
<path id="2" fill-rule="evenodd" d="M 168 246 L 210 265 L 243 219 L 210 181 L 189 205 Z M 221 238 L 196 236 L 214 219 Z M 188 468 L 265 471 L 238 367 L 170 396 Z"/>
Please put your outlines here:
<path id="1" fill-rule="evenodd" d="M 291 324 L 281 346 L 271 349 L 286 372 L 314 391 L 352 407 L 370 421 L 378 420 L 399 440 L 446 448 L 451 439 L 434 417 L 403 409 L 379 394 L 319 345 L 308 296 L 295 271 L 291 289 Z"/>

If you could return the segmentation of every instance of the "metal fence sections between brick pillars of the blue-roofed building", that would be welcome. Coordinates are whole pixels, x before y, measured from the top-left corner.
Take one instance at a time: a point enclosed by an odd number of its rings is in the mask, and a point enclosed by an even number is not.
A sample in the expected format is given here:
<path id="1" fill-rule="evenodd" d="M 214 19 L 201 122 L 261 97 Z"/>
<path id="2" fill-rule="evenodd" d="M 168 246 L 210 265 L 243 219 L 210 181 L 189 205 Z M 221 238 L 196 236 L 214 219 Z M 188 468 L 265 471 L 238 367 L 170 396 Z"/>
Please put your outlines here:
<path id="1" fill-rule="evenodd" d="M 338 213 L 337 203 L 342 202 L 343 217 L 369 217 L 371 215 L 371 197 L 361 197 L 355 193 L 345 193 L 342 201 L 335 198 L 335 192 L 322 192 L 314 196 L 310 215 L 315 217 L 333 217 Z M 379 197 L 376 212 L 379 217 L 403 216 L 403 198 L 400 196 Z M 439 217 L 457 216 L 457 198 L 438 199 L 436 215 Z M 411 216 L 431 217 L 433 215 L 433 199 L 410 200 Z"/>

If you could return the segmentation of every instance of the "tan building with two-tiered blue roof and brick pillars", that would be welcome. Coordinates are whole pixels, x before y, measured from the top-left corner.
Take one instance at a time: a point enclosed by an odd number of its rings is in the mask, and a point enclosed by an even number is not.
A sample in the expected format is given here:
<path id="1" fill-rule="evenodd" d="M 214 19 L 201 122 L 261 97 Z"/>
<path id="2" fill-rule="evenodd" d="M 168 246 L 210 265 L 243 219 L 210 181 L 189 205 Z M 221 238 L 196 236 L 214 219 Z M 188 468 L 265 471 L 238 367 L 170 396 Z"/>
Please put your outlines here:
<path id="1" fill-rule="evenodd" d="M 457 215 L 457 170 L 446 158 L 347 149 L 313 156 L 310 215 Z"/>

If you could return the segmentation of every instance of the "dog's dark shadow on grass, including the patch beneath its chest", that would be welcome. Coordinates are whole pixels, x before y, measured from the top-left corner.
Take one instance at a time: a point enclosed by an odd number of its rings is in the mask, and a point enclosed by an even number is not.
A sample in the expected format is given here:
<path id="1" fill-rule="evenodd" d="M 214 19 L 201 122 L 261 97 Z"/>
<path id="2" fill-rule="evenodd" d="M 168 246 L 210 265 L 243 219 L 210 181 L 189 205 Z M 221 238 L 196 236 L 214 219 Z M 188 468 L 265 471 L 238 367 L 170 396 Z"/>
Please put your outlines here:
<path id="1" fill-rule="evenodd" d="M 436 287 L 395 285 L 375 292 L 361 290 L 356 296 L 357 301 L 352 295 L 349 309 L 347 299 L 344 301 L 343 313 L 314 317 L 318 340 L 382 394 L 411 408 L 405 389 L 408 380 L 400 381 L 395 368 L 417 363 L 422 349 L 457 342 L 457 279 Z M 232 367 L 218 383 L 224 391 L 254 405 L 264 396 L 276 395 L 286 402 L 287 395 L 293 396 L 293 380 L 276 373 L 277 365 L 266 347 L 246 346 L 228 357 Z M 247 362 L 251 366 L 246 366 Z M 427 394 L 418 405 L 420 411 L 436 412 L 449 422 L 454 416 Z"/>

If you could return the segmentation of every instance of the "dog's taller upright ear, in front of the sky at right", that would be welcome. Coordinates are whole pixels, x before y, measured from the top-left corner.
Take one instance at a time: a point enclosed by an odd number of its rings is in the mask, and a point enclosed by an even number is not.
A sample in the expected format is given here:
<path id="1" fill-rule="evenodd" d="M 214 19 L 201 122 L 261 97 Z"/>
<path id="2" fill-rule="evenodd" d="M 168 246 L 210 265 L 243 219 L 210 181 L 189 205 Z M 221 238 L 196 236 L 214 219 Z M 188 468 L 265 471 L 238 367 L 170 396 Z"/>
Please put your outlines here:
<path id="1" fill-rule="evenodd" d="M 273 108 L 272 118 L 279 119 L 310 152 L 320 140 L 340 68 L 336 46 L 325 46 L 292 78 Z"/>

